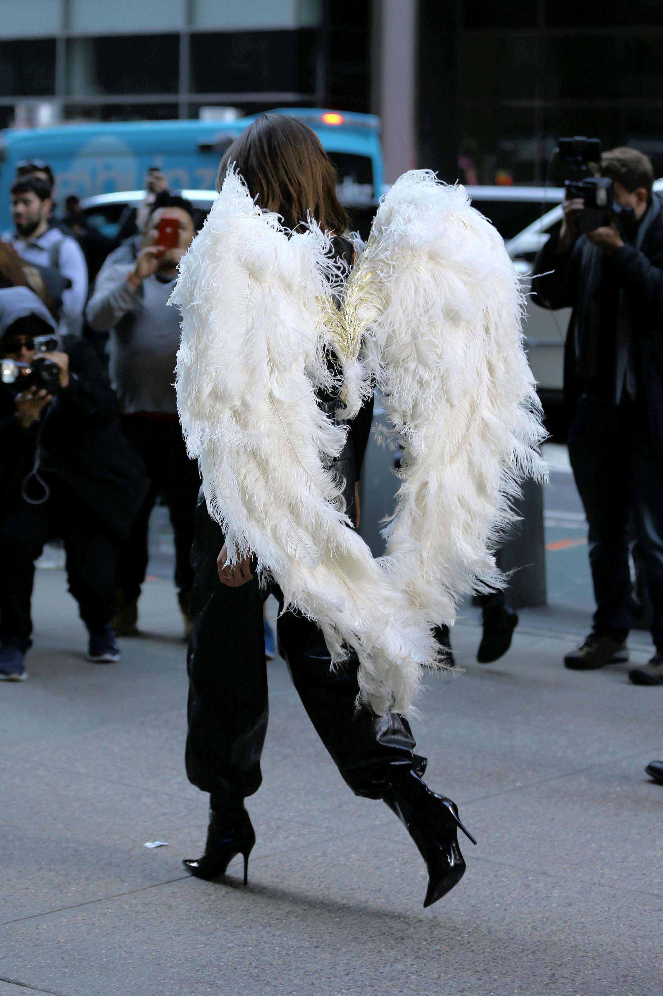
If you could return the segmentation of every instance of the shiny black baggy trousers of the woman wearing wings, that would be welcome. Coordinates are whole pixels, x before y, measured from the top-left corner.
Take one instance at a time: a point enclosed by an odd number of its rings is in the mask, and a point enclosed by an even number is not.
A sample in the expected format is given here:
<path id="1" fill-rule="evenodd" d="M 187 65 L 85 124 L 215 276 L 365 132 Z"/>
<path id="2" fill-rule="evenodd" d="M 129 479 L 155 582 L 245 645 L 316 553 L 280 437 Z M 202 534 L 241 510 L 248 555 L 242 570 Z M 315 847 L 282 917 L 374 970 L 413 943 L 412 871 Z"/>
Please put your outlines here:
<path id="1" fill-rule="evenodd" d="M 267 728 L 267 670 L 262 604 L 278 590 L 260 591 L 257 579 L 242 588 L 219 581 L 217 557 L 224 543 L 204 500 L 197 509 L 194 563 L 196 621 L 189 642 L 189 780 L 213 795 L 256 792 Z M 282 602 L 282 600 L 281 600 Z M 382 798 L 393 765 L 421 774 L 425 759 L 414 755 L 408 722 L 395 714 L 356 709 L 357 660 L 337 673 L 320 630 L 293 613 L 278 620 L 278 642 L 294 686 L 325 747 L 350 788 Z"/>

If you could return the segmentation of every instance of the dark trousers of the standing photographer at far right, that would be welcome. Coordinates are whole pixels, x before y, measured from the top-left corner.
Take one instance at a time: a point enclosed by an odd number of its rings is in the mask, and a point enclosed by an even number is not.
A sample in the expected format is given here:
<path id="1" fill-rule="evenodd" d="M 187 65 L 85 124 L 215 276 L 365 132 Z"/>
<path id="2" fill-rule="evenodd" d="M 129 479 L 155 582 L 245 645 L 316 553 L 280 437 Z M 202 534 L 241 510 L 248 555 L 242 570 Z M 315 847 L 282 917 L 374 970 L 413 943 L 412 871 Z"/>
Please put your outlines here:
<path id="1" fill-rule="evenodd" d="M 663 652 L 663 460 L 652 448 L 646 412 L 582 394 L 569 431 L 569 456 L 589 526 L 594 631 L 625 639 L 633 623 L 629 516 L 652 605 L 651 634 Z"/>

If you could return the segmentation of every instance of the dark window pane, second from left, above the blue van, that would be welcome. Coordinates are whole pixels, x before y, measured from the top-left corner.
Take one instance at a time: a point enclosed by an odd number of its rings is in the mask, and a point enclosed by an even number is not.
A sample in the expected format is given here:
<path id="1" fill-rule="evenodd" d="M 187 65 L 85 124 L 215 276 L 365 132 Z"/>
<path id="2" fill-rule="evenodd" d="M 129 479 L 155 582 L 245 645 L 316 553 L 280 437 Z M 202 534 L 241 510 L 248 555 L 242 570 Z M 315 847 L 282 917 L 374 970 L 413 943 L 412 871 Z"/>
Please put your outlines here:
<path id="1" fill-rule="evenodd" d="M 176 94 L 179 44 L 177 35 L 71 39 L 67 93 L 71 97 Z"/>

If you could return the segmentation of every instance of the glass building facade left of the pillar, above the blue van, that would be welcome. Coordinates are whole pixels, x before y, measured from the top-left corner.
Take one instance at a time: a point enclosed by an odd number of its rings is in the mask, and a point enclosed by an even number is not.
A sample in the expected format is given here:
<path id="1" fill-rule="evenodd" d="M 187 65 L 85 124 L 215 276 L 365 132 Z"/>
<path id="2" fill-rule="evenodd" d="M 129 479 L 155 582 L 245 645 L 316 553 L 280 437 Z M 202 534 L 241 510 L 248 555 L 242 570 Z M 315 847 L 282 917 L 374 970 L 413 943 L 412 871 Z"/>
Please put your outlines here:
<path id="1" fill-rule="evenodd" d="M 198 117 L 205 105 L 367 110 L 370 0 L 0 0 L 0 126 Z M 339 37 L 344 39 L 339 45 Z"/>

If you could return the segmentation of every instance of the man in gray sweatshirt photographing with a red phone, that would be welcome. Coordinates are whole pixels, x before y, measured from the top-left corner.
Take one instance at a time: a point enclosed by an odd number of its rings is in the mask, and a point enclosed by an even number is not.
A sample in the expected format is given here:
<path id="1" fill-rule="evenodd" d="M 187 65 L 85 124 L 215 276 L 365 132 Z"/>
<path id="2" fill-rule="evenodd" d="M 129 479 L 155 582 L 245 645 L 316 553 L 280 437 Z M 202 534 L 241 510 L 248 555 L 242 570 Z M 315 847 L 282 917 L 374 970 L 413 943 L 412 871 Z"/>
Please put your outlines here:
<path id="1" fill-rule="evenodd" d="M 178 226 L 178 245 L 157 244 L 159 222 Z M 136 631 L 137 603 L 148 561 L 147 529 L 157 495 L 168 506 L 175 534 L 175 584 L 185 628 L 190 627 L 193 572 L 189 556 L 200 487 L 197 465 L 188 458 L 177 415 L 175 361 L 180 316 L 167 302 L 177 265 L 195 235 L 189 201 L 159 194 L 140 241 L 123 243 L 101 267 L 85 315 L 97 332 L 110 331 L 110 375 L 119 398 L 121 423 L 140 451 L 150 477 L 147 498 L 118 566 L 119 634 Z"/>

